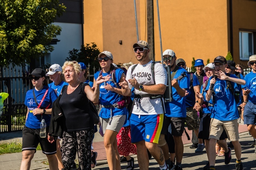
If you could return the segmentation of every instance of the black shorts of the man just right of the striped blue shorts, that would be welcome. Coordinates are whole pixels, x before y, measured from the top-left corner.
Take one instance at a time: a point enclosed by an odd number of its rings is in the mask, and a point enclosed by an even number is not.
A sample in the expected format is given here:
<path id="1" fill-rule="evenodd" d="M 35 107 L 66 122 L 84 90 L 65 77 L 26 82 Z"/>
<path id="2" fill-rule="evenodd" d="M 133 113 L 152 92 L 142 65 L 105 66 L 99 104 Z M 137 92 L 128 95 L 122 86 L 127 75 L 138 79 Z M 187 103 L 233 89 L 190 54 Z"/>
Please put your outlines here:
<path id="1" fill-rule="evenodd" d="M 186 118 L 164 117 L 161 134 L 167 135 L 168 127 L 171 124 L 171 134 L 173 136 L 182 136 L 185 128 Z"/>

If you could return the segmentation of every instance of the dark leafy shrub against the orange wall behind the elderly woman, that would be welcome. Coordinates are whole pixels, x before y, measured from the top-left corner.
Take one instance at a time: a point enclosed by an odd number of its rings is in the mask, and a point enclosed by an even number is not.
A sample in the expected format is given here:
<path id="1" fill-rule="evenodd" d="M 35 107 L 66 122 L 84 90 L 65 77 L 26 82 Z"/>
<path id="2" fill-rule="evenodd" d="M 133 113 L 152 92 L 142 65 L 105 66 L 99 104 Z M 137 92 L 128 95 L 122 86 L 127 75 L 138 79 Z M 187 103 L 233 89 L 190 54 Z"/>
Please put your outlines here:
<path id="1" fill-rule="evenodd" d="M 98 71 L 100 65 L 98 62 L 98 55 L 100 54 L 99 48 L 95 43 L 90 43 L 82 45 L 80 51 L 73 49 L 69 51 L 69 57 L 66 60 L 83 62 L 86 66 L 90 64 L 90 74 L 94 74 L 93 68 L 95 71 Z"/>

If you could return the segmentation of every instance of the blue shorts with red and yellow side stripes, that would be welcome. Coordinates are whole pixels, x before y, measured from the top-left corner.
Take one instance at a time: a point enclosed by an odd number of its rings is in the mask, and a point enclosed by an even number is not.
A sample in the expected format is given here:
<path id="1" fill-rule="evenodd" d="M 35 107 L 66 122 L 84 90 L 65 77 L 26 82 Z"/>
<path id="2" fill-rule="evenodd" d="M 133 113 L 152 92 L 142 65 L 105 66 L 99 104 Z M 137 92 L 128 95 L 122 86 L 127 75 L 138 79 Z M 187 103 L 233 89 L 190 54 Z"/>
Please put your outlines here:
<path id="1" fill-rule="evenodd" d="M 163 125 L 163 114 L 131 114 L 130 124 L 131 143 L 136 143 L 142 140 L 158 143 Z"/>

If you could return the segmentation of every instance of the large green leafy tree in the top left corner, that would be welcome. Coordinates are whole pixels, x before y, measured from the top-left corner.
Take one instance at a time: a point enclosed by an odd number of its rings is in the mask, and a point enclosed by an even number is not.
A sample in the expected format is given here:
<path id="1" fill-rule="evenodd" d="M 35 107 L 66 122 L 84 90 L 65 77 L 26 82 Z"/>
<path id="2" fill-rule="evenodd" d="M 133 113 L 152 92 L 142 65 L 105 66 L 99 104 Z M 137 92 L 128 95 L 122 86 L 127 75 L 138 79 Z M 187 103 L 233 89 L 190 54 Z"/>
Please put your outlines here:
<path id="1" fill-rule="evenodd" d="M 65 9 L 59 0 L 1 0 L 0 65 L 23 65 L 53 51 L 48 44 L 61 27 L 52 23 Z"/>

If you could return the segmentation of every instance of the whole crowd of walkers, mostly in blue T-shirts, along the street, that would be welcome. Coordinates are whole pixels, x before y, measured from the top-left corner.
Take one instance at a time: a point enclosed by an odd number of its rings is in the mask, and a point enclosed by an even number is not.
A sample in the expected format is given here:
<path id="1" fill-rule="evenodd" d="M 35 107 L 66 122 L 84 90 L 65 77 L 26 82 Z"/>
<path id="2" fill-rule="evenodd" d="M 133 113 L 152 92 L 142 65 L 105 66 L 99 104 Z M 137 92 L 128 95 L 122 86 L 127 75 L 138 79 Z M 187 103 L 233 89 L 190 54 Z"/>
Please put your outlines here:
<path id="1" fill-rule="evenodd" d="M 162 63 L 150 60 L 145 41 L 134 43 L 133 50 L 139 63 L 125 63 L 120 68 L 114 65 L 111 52 L 101 52 L 102 69 L 94 74 L 93 82 L 87 80 L 86 65 L 77 61 L 66 61 L 62 67 L 53 64 L 46 73 L 35 68 L 28 75 L 34 88 L 25 97 L 28 110 L 21 170 L 30 168 L 39 143 L 50 170 L 77 169 L 76 153 L 78 169 L 94 168 L 97 125 L 92 102 L 100 108 L 99 132 L 110 170 L 121 170 L 120 163 L 127 163 L 127 170 L 134 169 L 130 153 L 137 154 L 141 170 L 148 169 L 152 156 L 160 170 L 182 169 L 185 126 L 193 130 L 190 148 L 207 152 L 203 169 L 214 170 L 216 156 L 224 156 L 229 164 L 231 148 L 236 155 L 235 169 L 243 169 L 238 125 L 243 119 L 256 138 L 256 55 L 250 57 L 252 71 L 245 76 L 241 65 L 223 56 L 207 65 L 197 59 L 193 74 L 171 49 L 163 52 Z M 53 82 L 47 84 L 45 76 Z M 46 122 L 45 138 L 40 137 L 42 120 Z"/>

